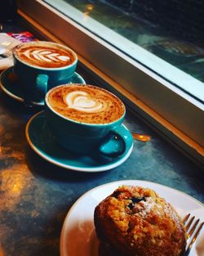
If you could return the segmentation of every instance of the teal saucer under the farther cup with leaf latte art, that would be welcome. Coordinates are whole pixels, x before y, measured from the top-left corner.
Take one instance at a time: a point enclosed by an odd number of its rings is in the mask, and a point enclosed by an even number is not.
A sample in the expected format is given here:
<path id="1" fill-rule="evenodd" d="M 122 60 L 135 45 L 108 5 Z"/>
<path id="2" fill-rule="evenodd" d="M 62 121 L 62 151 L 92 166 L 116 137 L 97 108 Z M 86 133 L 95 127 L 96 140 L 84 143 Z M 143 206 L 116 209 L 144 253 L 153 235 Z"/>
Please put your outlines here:
<path id="1" fill-rule="evenodd" d="M 70 79 L 69 83 L 82 83 L 86 82 L 82 76 L 78 73 L 74 73 L 73 77 Z M 7 70 L 2 71 L 0 75 L 0 87 L 2 91 L 5 92 L 9 97 L 15 99 L 16 101 L 24 102 L 23 91 L 20 86 L 19 80 L 16 78 L 13 73 L 13 67 L 8 68 Z M 44 101 L 32 102 L 33 105 L 43 106 Z"/>

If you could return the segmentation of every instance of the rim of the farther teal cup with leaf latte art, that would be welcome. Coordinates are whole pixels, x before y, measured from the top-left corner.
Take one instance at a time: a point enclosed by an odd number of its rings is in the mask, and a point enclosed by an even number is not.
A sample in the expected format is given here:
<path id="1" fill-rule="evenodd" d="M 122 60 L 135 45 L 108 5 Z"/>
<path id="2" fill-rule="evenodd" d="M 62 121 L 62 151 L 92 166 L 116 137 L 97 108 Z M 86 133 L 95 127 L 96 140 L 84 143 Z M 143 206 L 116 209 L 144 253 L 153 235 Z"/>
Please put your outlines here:
<path id="1" fill-rule="evenodd" d="M 47 67 L 41 67 L 41 66 L 38 66 L 38 65 L 29 65 L 29 63 L 27 63 L 26 61 L 22 61 L 20 60 L 20 58 L 18 57 L 17 53 L 16 53 L 16 49 L 24 46 L 24 45 L 32 45 L 32 44 L 43 44 L 43 43 L 47 43 L 47 44 L 50 44 L 50 45 L 55 45 L 55 46 L 60 46 L 60 47 L 63 47 L 64 49 L 68 50 L 69 52 L 72 52 L 73 56 L 74 56 L 74 61 L 73 63 L 69 64 L 69 65 L 64 65 L 62 67 L 52 67 L 52 68 L 47 68 Z M 35 68 L 35 69 L 38 69 L 38 70 L 65 70 L 73 65 L 76 65 L 76 63 L 78 62 L 78 55 L 76 52 L 73 51 L 73 49 L 63 45 L 63 44 L 60 44 L 60 43 L 55 43 L 55 42 L 49 42 L 49 41 L 32 41 L 32 42 L 25 42 L 25 43 L 20 43 L 18 45 L 16 45 L 16 47 L 13 48 L 13 51 L 12 51 L 12 54 L 13 56 L 16 58 L 16 60 L 20 61 L 21 63 L 23 63 L 24 65 L 28 65 L 29 67 L 32 67 L 32 68 Z"/>

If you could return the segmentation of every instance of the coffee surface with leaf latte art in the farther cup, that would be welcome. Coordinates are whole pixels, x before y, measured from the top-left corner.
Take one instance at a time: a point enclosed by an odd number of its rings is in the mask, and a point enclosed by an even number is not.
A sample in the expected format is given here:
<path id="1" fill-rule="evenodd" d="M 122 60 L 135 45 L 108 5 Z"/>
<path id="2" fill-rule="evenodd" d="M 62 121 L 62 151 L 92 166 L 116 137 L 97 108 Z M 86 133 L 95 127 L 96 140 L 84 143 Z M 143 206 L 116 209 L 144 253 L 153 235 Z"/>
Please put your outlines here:
<path id="1" fill-rule="evenodd" d="M 15 54 L 20 61 L 42 68 L 60 68 L 75 61 L 72 52 L 50 44 L 24 44 L 16 47 Z"/>

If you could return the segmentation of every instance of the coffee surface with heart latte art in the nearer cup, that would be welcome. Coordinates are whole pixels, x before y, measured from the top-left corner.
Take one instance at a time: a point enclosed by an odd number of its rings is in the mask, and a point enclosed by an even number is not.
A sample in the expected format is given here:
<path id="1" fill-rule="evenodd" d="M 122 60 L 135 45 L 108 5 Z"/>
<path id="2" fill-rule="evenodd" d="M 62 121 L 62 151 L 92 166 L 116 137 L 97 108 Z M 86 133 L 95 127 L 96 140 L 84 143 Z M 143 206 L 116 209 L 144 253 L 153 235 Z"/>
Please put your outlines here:
<path id="1" fill-rule="evenodd" d="M 87 124 L 109 124 L 122 117 L 125 106 L 118 97 L 91 85 L 64 85 L 48 94 L 53 110 L 66 118 Z"/>

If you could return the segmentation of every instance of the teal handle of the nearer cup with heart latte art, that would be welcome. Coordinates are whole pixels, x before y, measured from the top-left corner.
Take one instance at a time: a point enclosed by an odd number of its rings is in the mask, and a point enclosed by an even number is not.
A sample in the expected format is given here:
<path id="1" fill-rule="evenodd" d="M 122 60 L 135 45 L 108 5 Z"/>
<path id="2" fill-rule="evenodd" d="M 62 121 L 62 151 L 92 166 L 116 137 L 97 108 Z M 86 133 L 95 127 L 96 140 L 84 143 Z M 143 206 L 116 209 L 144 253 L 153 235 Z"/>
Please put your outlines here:
<path id="1" fill-rule="evenodd" d="M 124 125 L 120 125 L 109 132 L 103 144 L 100 145 L 99 151 L 104 156 L 118 157 L 129 150 L 132 143 L 131 132 Z"/>

